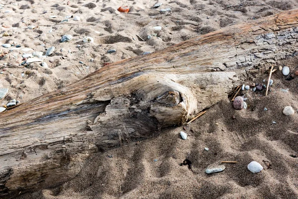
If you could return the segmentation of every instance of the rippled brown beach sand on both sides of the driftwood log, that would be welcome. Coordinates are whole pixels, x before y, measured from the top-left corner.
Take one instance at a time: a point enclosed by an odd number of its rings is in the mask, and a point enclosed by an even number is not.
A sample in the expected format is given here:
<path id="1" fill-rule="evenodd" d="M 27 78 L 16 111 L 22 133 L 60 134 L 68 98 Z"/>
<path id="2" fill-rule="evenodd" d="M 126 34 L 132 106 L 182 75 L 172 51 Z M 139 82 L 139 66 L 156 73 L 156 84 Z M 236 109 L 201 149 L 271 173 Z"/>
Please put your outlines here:
<path id="1" fill-rule="evenodd" d="M 25 102 L 64 88 L 111 62 L 298 7 L 296 0 L 161 0 L 163 4 L 154 9 L 156 2 L 1 0 L 0 44 L 21 47 L 0 47 L 0 88 L 9 89 L 0 105 L 11 99 Z M 130 12 L 118 12 L 121 5 L 130 6 Z M 171 11 L 160 13 L 162 8 Z M 67 16 L 79 16 L 80 21 Z M 65 19 L 69 21 L 61 22 Z M 35 28 L 28 29 L 30 25 Z M 154 30 L 154 26 L 162 29 Z M 2 36 L 6 32 L 9 36 Z M 65 34 L 73 40 L 60 43 Z M 149 34 L 157 35 L 148 39 Z M 94 42 L 83 42 L 85 36 Z M 22 54 L 45 52 L 51 46 L 55 52 L 43 58 L 48 68 L 40 62 L 19 65 L 24 61 Z M 110 49 L 116 52 L 107 53 Z M 298 70 L 297 58 L 285 64 L 291 72 Z M 265 78 L 259 77 L 255 83 Z M 286 81 L 276 71 L 272 79 L 268 97 L 263 97 L 264 91 L 243 92 L 248 97 L 246 110 L 235 110 L 228 99 L 223 100 L 186 130 L 165 129 L 150 140 L 96 154 L 70 182 L 18 199 L 297 199 L 298 78 Z M 283 115 L 287 105 L 295 109 L 294 115 Z M 180 138 L 181 130 L 189 135 L 188 140 Z M 192 161 L 193 172 L 180 166 L 185 158 Z M 222 173 L 205 174 L 208 165 L 220 165 L 221 161 L 238 163 L 224 164 Z M 264 170 L 251 174 L 247 170 L 251 161 L 259 162 Z"/>

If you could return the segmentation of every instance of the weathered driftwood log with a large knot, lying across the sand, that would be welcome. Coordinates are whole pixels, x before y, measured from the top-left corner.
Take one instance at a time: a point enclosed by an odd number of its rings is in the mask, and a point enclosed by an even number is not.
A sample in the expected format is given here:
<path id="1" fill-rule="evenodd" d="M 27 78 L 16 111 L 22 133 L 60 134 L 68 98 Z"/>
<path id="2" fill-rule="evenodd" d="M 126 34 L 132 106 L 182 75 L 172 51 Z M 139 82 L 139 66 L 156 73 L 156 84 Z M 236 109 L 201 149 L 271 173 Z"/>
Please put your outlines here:
<path id="1" fill-rule="evenodd" d="M 0 114 L 0 198 L 57 186 L 91 154 L 142 140 L 297 55 L 298 10 L 110 64 Z"/>

